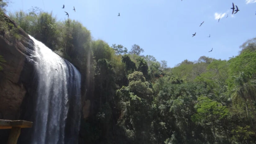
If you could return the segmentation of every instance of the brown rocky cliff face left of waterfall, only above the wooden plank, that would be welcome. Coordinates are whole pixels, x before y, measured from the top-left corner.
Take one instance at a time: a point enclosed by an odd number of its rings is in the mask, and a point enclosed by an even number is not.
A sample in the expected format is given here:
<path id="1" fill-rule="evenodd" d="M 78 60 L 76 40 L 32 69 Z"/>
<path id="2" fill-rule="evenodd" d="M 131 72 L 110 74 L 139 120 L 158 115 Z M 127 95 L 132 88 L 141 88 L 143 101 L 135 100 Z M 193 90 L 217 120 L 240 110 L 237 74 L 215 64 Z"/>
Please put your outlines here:
<path id="1" fill-rule="evenodd" d="M 19 40 L 7 32 L 0 32 L 0 55 L 7 61 L 0 71 L 0 119 L 19 119 L 21 104 L 28 92 L 33 73 L 33 61 L 29 59 L 33 41 L 17 25 L 4 16 L 6 23 L 11 23 L 19 34 Z"/>

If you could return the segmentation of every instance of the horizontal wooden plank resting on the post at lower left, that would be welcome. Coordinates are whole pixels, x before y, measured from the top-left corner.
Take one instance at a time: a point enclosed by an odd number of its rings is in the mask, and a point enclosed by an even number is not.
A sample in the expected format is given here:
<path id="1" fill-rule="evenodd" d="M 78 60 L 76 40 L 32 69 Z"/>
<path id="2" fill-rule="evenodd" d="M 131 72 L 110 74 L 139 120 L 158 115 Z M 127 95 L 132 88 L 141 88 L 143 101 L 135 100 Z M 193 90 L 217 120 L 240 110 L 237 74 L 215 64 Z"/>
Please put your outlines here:
<path id="1" fill-rule="evenodd" d="M 0 120 L 0 129 L 11 129 L 12 127 L 31 128 L 33 122 L 23 120 Z"/>

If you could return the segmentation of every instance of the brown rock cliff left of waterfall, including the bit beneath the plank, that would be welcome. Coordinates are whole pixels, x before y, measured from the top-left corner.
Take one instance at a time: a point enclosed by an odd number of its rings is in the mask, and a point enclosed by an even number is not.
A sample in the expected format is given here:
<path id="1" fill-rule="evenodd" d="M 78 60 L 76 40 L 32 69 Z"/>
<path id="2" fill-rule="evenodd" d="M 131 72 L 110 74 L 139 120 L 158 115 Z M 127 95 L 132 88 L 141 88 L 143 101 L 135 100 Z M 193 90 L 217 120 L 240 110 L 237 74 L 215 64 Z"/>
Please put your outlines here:
<path id="1" fill-rule="evenodd" d="M 6 60 L 0 71 L 0 119 L 29 120 L 33 112 L 33 103 L 29 102 L 33 100 L 29 91 L 34 91 L 34 64 L 30 59 L 33 41 L 7 15 L 1 15 L 0 23 L 0 55 Z M 7 141 L 8 133 L 0 131 L 1 142 Z"/>

